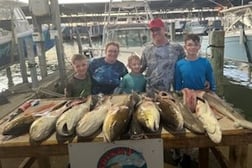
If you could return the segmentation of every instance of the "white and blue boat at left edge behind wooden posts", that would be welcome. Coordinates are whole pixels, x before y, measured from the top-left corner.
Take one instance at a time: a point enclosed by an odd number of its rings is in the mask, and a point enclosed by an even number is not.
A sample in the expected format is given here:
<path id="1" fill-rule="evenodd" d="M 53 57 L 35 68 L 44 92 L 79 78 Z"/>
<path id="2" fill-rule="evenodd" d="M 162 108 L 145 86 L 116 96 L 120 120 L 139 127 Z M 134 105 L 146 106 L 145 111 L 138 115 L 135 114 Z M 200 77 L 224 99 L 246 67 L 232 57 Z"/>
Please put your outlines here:
<path id="1" fill-rule="evenodd" d="M 0 6 L 1 28 L 0 28 L 0 68 L 17 63 L 19 60 L 16 43 L 18 39 L 33 41 L 33 27 L 29 24 L 22 9 L 20 7 Z M 11 15 L 13 14 L 13 15 Z M 44 38 L 45 50 L 49 50 L 54 46 L 54 40 L 50 38 L 49 28 L 42 26 L 42 34 Z M 36 55 L 36 47 L 33 42 L 34 52 Z M 13 53 L 12 53 L 13 51 Z"/>

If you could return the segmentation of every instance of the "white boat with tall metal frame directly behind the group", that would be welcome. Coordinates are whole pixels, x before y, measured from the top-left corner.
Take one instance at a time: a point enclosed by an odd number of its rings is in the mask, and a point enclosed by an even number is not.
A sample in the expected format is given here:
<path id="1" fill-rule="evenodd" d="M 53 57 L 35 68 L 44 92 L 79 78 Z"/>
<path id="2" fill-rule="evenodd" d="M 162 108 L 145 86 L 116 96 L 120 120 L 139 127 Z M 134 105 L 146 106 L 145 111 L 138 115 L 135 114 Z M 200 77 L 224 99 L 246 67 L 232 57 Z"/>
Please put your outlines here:
<path id="1" fill-rule="evenodd" d="M 153 18 L 148 2 L 123 0 L 109 3 L 104 20 L 102 46 L 109 41 L 120 44 L 119 60 L 126 63 L 132 53 L 140 55 L 150 41 L 148 22 Z"/>

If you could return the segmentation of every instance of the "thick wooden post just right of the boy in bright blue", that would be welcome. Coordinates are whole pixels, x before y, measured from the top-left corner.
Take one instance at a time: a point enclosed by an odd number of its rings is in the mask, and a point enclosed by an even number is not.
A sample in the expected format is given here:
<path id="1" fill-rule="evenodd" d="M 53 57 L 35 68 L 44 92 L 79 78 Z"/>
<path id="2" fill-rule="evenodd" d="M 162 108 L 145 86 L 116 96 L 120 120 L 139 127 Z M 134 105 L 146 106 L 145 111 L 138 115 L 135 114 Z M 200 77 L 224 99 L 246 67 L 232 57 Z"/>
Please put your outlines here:
<path id="1" fill-rule="evenodd" d="M 224 66 L 224 37 L 225 32 L 214 30 L 209 34 L 209 44 L 212 53 L 212 66 L 216 81 L 217 91 L 219 96 L 224 95 L 223 87 L 223 66 Z"/>

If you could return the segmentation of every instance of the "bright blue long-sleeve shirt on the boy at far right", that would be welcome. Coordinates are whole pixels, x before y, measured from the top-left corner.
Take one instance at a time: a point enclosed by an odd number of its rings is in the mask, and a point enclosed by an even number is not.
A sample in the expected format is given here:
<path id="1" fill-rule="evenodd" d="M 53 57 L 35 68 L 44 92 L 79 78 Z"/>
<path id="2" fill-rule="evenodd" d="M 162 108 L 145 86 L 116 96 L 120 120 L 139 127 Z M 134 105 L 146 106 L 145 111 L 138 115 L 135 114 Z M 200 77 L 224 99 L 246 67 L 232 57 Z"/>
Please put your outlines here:
<path id="1" fill-rule="evenodd" d="M 175 90 L 189 88 L 194 90 L 205 89 L 206 81 L 210 84 L 210 90 L 216 91 L 213 69 L 206 58 L 199 57 L 196 60 L 181 59 L 175 68 Z"/>

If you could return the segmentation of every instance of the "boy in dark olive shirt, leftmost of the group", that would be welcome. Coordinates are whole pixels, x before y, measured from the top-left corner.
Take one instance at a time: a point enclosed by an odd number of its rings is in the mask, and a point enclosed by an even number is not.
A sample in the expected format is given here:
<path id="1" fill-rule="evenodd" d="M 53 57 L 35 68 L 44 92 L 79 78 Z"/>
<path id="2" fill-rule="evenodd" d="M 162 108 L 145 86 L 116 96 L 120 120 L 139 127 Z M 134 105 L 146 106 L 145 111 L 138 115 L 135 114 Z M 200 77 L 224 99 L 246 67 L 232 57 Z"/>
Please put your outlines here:
<path id="1" fill-rule="evenodd" d="M 86 97 L 91 94 L 91 78 L 88 60 L 84 55 L 74 54 L 71 58 L 74 75 L 65 88 L 66 97 Z"/>

